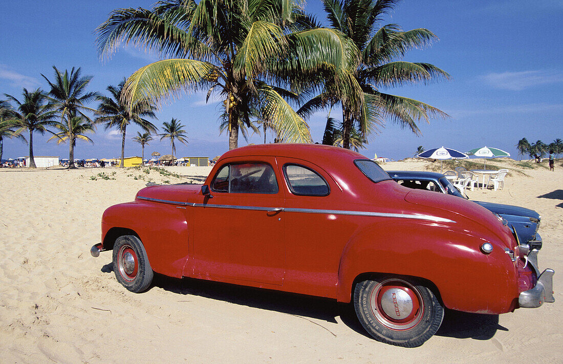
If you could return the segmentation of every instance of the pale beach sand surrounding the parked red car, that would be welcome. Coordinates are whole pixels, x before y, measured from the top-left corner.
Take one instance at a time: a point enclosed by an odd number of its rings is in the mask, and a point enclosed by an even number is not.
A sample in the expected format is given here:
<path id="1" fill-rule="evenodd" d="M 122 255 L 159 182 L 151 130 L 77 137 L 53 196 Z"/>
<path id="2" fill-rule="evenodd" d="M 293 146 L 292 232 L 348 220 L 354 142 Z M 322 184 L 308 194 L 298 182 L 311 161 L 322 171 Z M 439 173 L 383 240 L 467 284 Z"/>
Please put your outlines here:
<path id="1" fill-rule="evenodd" d="M 149 291 L 133 294 L 116 281 L 110 252 L 92 258 L 105 208 L 131 201 L 149 178 L 199 181 L 209 168 L 170 168 L 193 176 L 181 179 L 119 168 L 2 168 L 0 362 L 562 362 L 560 164 L 550 172 L 507 161 L 511 175 L 504 190 L 467 192 L 472 199 L 529 207 L 542 215 L 539 265 L 556 271 L 556 303 L 501 316 L 448 312 L 440 331 L 413 349 L 369 338 L 349 305 L 162 277 Z M 387 170 L 425 166 L 383 165 Z"/>

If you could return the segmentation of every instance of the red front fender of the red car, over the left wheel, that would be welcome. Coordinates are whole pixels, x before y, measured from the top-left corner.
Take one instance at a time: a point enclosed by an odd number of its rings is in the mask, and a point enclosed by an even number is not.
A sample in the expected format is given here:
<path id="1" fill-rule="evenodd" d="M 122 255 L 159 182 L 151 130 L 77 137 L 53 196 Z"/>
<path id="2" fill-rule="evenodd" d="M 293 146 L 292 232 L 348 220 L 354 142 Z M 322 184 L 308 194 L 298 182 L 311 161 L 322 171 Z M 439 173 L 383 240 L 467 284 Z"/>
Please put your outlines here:
<path id="1" fill-rule="evenodd" d="M 111 206 L 102 216 L 104 248 L 113 245 L 106 238 L 112 229 L 132 231 L 141 239 L 155 272 L 181 278 L 189 255 L 185 211 L 174 205 L 140 200 Z"/>

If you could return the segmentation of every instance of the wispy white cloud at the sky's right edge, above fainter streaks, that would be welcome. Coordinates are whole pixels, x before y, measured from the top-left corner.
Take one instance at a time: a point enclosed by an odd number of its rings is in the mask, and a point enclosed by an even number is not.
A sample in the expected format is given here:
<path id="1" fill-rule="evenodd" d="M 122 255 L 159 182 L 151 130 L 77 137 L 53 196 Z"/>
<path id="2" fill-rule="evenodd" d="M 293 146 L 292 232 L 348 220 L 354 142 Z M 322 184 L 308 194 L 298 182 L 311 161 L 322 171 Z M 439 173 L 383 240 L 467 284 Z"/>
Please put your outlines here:
<path id="1" fill-rule="evenodd" d="M 481 76 L 481 79 L 494 88 L 522 91 L 525 88 L 545 85 L 546 83 L 563 82 L 563 73 L 542 70 L 503 73 L 493 72 Z"/>

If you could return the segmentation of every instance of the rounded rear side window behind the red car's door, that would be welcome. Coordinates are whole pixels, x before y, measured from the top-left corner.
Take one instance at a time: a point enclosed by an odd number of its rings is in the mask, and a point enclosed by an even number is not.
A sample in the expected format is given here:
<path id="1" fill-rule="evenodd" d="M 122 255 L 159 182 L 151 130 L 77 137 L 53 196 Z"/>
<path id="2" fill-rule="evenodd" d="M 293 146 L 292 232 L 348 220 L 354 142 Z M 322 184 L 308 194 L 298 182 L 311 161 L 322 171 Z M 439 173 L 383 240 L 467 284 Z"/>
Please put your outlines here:
<path id="1" fill-rule="evenodd" d="M 293 194 L 305 196 L 327 196 L 330 193 L 327 181 L 317 172 L 303 166 L 285 165 L 285 180 Z"/>

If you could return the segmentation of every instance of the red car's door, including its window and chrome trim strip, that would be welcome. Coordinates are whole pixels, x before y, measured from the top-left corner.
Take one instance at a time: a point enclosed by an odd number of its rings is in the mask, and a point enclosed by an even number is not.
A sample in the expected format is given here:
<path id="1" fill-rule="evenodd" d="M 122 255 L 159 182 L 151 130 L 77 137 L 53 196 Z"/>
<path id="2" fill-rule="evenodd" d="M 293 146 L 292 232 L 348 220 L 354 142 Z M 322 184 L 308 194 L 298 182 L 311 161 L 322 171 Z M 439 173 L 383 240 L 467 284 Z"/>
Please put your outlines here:
<path id="1" fill-rule="evenodd" d="M 274 157 L 227 160 L 195 204 L 194 276 L 282 285 L 284 192 Z"/>

